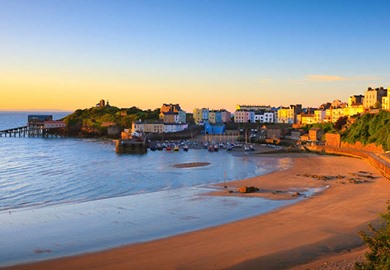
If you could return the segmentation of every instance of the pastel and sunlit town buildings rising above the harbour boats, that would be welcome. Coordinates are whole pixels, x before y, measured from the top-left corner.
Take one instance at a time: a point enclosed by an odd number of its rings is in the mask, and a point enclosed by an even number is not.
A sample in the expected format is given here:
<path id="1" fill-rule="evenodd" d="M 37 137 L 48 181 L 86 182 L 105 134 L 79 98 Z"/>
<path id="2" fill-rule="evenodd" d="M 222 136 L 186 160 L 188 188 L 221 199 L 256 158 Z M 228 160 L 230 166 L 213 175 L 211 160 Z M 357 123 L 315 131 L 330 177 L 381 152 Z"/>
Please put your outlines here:
<path id="1" fill-rule="evenodd" d="M 101 100 L 96 106 L 110 105 Z M 246 144 L 277 145 L 284 142 L 285 145 L 321 145 L 327 142 L 331 146 L 340 146 L 339 132 L 333 130 L 325 134 L 327 130 L 323 127 L 326 127 L 326 124 L 345 125 L 352 123 L 360 115 L 389 110 L 388 89 L 383 87 L 369 87 L 364 94 L 352 95 L 346 102 L 334 100 L 323 103 L 318 108 L 304 108 L 301 104 L 287 107 L 237 105 L 235 112 L 226 109 L 194 108 L 191 114 L 183 111 L 179 104 L 170 103 L 162 105 L 158 119 L 138 119 L 132 122 L 131 128 L 120 130 L 120 137 L 121 140 L 142 140 L 148 137 L 161 141 L 164 140 L 164 134 L 166 140 L 194 139 L 194 135 L 202 135 L 201 140 L 205 143 L 241 141 Z M 126 114 L 126 110 L 122 110 L 122 113 Z M 108 128 L 108 134 L 118 136 L 120 128 L 116 123 L 104 122 L 101 125 Z M 165 148 L 166 145 L 163 145 Z M 167 150 L 175 147 L 171 146 Z M 226 148 L 229 144 L 221 146 Z M 375 148 L 373 145 L 370 147 Z M 383 151 L 380 146 L 376 150 Z"/>

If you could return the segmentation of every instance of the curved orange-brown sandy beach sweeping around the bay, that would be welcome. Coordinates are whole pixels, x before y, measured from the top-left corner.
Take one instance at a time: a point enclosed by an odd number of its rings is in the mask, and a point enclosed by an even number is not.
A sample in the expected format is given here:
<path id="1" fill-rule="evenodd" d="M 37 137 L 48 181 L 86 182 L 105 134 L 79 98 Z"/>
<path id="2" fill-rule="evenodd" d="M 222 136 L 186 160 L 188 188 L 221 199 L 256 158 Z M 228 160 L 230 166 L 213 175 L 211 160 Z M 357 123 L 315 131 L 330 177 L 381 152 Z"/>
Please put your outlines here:
<path id="1" fill-rule="evenodd" d="M 213 195 L 280 199 L 283 194 L 283 199 L 292 199 L 294 192 L 305 188 L 328 188 L 297 204 L 230 224 L 9 269 L 334 269 L 337 263 L 364 254 L 358 232 L 386 210 L 390 181 L 360 159 L 311 154 L 267 157 L 287 157 L 293 166 L 229 182 Z M 260 191 L 236 193 L 241 186 Z"/>

